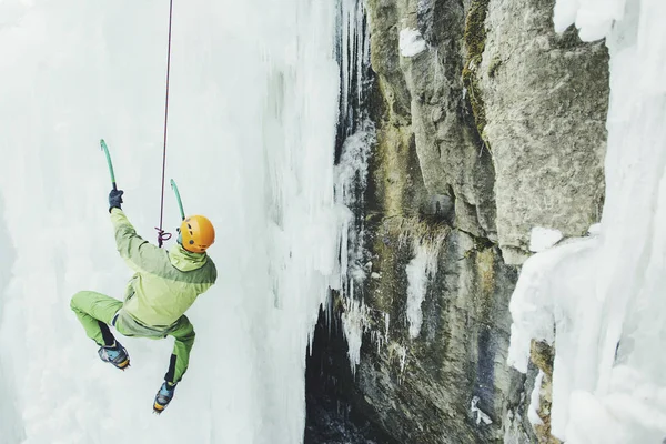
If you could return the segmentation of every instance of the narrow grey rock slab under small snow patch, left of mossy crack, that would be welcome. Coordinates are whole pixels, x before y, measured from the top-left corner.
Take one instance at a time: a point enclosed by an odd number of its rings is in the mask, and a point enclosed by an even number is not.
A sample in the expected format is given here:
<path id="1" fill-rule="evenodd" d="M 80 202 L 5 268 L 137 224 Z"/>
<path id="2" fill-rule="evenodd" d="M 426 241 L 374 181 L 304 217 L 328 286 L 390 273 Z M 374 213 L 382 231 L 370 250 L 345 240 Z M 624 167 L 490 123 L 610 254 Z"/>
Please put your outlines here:
<path id="1" fill-rule="evenodd" d="M 430 193 L 453 193 L 463 209 L 461 229 L 492 236 L 495 230 L 494 169 L 465 108 L 461 72 L 461 36 L 465 14 L 453 1 L 422 1 L 416 11 L 427 51 L 401 57 L 410 90 L 412 130 L 425 186 Z M 435 19 L 436 18 L 436 19 Z"/>

